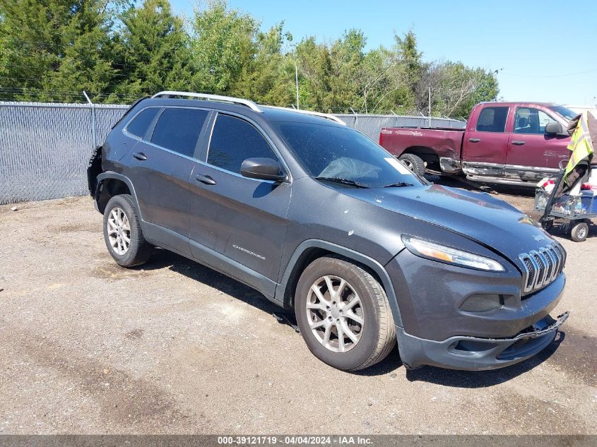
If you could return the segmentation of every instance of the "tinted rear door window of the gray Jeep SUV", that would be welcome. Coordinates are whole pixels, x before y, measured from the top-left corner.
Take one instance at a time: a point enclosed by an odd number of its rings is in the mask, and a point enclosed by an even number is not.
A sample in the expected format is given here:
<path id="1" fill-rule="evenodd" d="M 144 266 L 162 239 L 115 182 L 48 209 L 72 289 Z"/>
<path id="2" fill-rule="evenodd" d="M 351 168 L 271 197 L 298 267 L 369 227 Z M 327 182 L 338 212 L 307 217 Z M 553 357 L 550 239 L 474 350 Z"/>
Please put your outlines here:
<path id="1" fill-rule="evenodd" d="M 155 124 L 151 142 L 192 157 L 207 114 L 199 109 L 165 109 Z"/>

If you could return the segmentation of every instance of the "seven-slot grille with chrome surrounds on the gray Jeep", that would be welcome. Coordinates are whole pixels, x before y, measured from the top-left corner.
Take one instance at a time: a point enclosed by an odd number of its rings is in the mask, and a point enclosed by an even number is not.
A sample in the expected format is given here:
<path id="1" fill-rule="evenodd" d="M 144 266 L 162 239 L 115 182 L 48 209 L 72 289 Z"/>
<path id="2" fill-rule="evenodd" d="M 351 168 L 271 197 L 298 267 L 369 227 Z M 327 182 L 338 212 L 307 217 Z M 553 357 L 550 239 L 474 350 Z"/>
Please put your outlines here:
<path id="1" fill-rule="evenodd" d="M 566 252 L 557 245 L 543 246 L 538 250 L 519 255 L 524 266 L 524 293 L 548 285 L 560 275 L 566 263 Z"/>

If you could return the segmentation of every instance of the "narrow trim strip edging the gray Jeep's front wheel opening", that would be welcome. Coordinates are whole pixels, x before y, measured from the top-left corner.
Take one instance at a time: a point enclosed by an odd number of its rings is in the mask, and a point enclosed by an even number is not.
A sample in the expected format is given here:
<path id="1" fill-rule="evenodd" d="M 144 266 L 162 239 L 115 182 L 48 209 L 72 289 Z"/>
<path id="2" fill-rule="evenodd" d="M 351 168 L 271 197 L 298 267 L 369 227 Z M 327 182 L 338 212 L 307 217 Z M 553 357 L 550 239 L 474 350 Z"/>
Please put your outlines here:
<path id="1" fill-rule="evenodd" d="M 282 281 L 280 282 L 278 287 L 276 287 L 276 301 L 278 301 L 280 304 L 284 302 L 286 285 L 288 285 L 288 281 L 290 280 L 292 270 L 294 269 L 297 261 L 299 260 L 300 256 L 305 252 L 305 250 L 312 248 L 324 249 L 327 251 L 331 251 L 332 253 L 345 256 L 346 258 L 350 258 L 353 261 L 357 261 L 358 263 L 367 266 L 375 273 L 377 273 L 379 279 L 382 280 L 382 285 L 384 286 L 386 296 L 388 297 L 388 302 L 392 311 L 392 316 L 394 317 L 394 323 L 396 324 L 396 326 L 403 327 L 400 309 L 398 308 L 398 299 L 396 298 L 396 293 L 394 292 L 394 286 L 392 285 L 391 279 L 388 273 L 386 272 L 384 266 L 382 266 L 382 264 L 365 254 L 348 249 L 345 246 L 333 244 L 332 242 L 322 241 L 321 239 L 307 239 L 306 241 L 302 242 L 299 246 L 297 246 L 295 252 L 290 257 L 290 260 L 288 261 L 288 264 L 284 270 Z"/>

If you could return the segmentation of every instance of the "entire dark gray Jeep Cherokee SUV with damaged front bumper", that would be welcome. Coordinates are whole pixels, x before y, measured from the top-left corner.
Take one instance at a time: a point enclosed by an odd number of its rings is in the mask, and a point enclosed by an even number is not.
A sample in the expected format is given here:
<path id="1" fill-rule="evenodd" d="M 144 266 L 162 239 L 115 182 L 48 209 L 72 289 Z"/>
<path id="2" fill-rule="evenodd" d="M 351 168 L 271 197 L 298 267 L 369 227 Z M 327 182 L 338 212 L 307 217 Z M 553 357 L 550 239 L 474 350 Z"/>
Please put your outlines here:
<path id="1" fill-rule="evenodd" d="M 174 251 L 294 309 L 339 369 L 493 369 L 554 340 L 566 253 L 512 206 L 429 184 L 329 115 L 162 92 L 93 154 L 123 267 Z"/>

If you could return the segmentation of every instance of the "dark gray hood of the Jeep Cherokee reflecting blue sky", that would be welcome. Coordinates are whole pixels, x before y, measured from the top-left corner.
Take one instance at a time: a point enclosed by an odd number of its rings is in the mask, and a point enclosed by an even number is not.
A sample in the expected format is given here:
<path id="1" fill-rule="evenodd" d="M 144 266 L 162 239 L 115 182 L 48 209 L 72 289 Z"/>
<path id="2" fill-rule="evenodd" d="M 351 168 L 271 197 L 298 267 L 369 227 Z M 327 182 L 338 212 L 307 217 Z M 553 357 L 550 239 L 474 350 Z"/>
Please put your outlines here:
<path id="1" fill-rule="evenodd" d="M 530 217 L 487 193 L 445 186 L 345 189 L 354 198 L 438 225 L 488 246 L 520 265 L 519 254 L 553 242 Z M 416 235 L 416 234 L 414 234 Z M 439 241 L 441 242 L 441 241 Z"/>

